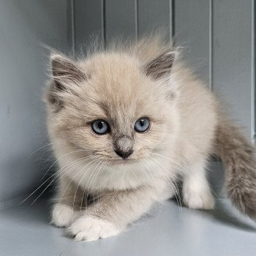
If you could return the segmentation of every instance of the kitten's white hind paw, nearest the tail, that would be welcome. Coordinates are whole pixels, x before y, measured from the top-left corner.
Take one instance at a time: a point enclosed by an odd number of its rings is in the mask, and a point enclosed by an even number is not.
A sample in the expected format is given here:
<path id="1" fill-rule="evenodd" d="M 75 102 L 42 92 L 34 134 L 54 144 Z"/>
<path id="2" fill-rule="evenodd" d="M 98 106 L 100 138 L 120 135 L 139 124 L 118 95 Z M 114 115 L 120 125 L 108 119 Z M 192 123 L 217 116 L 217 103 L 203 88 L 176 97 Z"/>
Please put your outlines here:
<path id="1" fill-rule="evenodd" d="M 214 201 L 210 191 L 184 191 L 183 202 L 189 208 L 211 210 L 214 208 Z"/>

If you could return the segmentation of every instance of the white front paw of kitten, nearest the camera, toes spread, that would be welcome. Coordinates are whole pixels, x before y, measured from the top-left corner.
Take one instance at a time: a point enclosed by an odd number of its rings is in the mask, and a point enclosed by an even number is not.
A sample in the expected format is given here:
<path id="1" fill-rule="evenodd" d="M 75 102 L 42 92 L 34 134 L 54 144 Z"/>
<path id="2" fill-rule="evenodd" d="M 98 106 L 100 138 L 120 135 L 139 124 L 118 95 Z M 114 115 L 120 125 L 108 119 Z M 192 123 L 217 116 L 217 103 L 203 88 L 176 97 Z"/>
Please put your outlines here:
<path id="1" fill-rule="evenodd" d="M 83 216 L 75 220 L 68 228 L 68 233 L 75 236 L 75 240 L 94 241 L 99 238 L 108 238 L 121 233 L 121 230 L 112 223 L 97 217 Z"/>

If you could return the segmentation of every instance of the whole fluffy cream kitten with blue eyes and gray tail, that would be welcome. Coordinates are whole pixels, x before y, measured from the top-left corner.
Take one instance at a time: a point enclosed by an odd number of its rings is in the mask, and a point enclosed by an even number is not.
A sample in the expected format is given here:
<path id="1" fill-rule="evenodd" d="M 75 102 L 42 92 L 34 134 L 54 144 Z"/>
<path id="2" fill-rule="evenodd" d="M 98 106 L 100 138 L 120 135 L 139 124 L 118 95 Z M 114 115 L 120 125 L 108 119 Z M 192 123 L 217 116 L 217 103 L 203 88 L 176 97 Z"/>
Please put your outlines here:
<path id="1" fill-rule="evenodd" d="M 222 158 L 227 194 L 256 217 L 255 149 L 222 114 L 214 94 L 161 37 L 149 37 L 75 61 L 50 56 L 45 101 L 59 162 L 52 223 L 77 240 L 121 233 L 178 194 L 189 208 L 214 208 L 206 180 Z"/>

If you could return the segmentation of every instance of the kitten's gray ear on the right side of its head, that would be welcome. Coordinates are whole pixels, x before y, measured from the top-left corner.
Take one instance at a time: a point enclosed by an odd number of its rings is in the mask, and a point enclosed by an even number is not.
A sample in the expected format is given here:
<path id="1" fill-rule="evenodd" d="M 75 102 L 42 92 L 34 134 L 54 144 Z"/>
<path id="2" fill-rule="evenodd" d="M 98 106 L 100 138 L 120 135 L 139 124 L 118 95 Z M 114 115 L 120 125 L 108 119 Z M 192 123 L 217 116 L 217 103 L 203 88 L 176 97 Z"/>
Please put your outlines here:
<path id="1" fill-rule="evenodd" d="M 175 58 L 176 53 L 174 51 L 162 53 L 161 55 L 157 56 L 157 58 L 146 64 L 146 75 L 150 76 L 154 80 L 167 77 L 170 75 Z"/>

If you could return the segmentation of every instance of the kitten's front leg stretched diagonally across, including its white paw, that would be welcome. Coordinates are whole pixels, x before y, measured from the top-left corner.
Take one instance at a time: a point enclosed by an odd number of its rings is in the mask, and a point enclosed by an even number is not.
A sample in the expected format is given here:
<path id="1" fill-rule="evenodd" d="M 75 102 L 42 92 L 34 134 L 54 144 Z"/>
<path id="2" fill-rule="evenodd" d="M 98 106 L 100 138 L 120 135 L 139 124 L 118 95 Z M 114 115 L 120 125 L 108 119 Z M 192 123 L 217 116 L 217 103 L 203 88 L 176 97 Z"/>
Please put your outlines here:
<path id="1" fill-rule="evenodd" d="M 126 191 L 105 192 L 68 228 L 76 240 L 94 241 L 121 233 L 129 223 L 148 211 L 157 191 L 140 187 Z"/>

